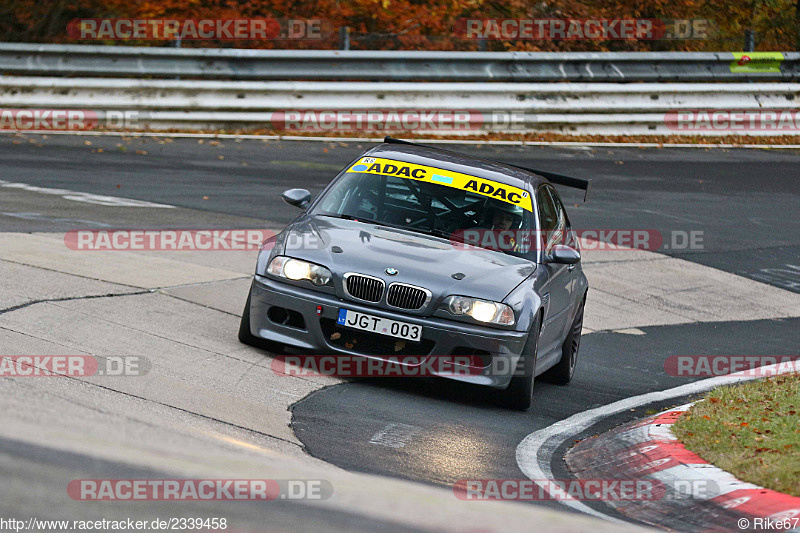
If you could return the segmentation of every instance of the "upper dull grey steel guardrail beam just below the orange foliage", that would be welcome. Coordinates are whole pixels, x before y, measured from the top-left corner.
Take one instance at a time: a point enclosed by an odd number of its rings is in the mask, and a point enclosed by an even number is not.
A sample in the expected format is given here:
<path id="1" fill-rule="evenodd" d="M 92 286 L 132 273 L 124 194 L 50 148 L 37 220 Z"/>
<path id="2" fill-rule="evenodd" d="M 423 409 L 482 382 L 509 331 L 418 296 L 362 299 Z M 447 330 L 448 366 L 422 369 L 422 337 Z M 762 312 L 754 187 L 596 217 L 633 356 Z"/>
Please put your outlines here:
<path id="1" fill-rule="evenodd" d="M 455 82 L 800 81 L 800 52 L 777 72 L 733 72 L 730 52 L 244 50 L 0 43 L 6 75 L 231 80 Z"/>

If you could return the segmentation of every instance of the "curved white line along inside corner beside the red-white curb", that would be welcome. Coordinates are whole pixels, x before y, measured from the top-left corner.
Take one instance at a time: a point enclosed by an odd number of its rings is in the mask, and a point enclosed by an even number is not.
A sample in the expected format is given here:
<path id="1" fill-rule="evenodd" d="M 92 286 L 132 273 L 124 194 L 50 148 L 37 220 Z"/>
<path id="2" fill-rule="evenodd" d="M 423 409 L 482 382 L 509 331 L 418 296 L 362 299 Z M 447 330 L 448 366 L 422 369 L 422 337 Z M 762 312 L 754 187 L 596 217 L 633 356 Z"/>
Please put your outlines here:
<path id="1" fill-rule="evenodd" d="M 608 418 L 623 411 L 628 411 L 649 403 L 705 392 L 721 385 L 732 385 L 742 381 L 749 381 L 794 371 L 796 371 L 796 369 L 793 365 L 782 365 L 779 363 L 775 365 L 763 366 L 755 370 L 737 372 L 735 374 L 728 374 L 726 376 L 717 376 L 687 383 L 686 385 L 681 385 L 680 387 L 675 387 L 672 389 L 650 392 L 639 396 L 632 396 L 630 398 L 625 398 L 624 400 L 619 400 L 602 407 L 596 407 L 594 409 L 589 409 L 588 411 L 574 414 L 565 420 L 556 422 L 552 426 L 540 429 L 539 431 L 534 431 L 522 439 L 522 442 L 520 442 L 517 446 L 517 464 L 519 465 L 520 470 L 522 470 L 526 476 L 533 480 L 534 483 L 539 485 L 536 480 L 553 479 L 553 471 L 550 468 L 550 465 L 556 449 L 558 449 L 558 447 L 567 439 L 593 426 L 595 423 L 604 418 Z M 565 498 L 559 501 L 561 501 L 561 503 L 567 507 L 575 509 L 576 511 L 582 511 L 586 514 L 603 518 L 605 520 L 610 520 L 612 522 L 623 522 L 622 520 L 613 518 L 605 513 L 596 511 L 578 500 Z"/>

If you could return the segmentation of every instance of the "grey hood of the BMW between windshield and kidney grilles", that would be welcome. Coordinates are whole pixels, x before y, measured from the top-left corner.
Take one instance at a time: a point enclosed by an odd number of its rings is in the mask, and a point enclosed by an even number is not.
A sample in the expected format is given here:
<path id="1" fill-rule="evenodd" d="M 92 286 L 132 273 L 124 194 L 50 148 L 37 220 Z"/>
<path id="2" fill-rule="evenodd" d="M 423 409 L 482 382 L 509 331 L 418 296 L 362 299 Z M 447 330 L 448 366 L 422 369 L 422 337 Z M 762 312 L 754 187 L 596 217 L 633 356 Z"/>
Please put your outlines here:
<path id="1" fill-rule="evenodd" d="M 282 237 L 285 255 L 324 265 L 337 280 L 345 272 L 368 274 L 387 285 L 397 281 L 425 287 L 433 301 L 450 294 L 502 301 L 536 270 L 535 263 L 501 252 L 464 249 L 439 237 L 327 216 L 302 217 Z M 387 268 L 397 274 L 389 276 Z"/>

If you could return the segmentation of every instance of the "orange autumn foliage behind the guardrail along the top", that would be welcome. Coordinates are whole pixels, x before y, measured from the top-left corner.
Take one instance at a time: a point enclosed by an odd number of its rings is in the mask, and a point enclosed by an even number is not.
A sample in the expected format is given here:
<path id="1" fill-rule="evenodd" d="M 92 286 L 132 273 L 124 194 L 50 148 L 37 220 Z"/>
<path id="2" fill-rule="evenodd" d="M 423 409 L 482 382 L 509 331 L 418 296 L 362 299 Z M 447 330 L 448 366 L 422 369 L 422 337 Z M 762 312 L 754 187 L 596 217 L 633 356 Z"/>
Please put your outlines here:
<path id="1" fill-rule="evenodd" d="M 183 46 L 338 48 L 338 28 L 351 28 L 353 49 L 403 50 L 741 50 L 744 31 L 756 32 L 759 50 L 800 46 L 800 0 L 0 0 L 0 40 L 72 42 L 76 18 L 295 18 L 326 19 L 334 31 L 322 40 L 186 41 Z M 702 40 L 487 41 L 454 34 L 459 18 L 710 19 Z M 164 46 L 164 41 L 95 44 Z"/>

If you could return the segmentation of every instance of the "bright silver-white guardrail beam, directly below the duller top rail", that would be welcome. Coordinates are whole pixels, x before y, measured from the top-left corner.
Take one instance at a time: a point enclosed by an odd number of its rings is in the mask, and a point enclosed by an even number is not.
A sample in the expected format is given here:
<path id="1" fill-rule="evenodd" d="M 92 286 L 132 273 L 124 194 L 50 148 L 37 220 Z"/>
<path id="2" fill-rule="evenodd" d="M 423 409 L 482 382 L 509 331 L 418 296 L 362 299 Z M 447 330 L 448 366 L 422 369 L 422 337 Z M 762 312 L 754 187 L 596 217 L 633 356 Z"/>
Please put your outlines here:
<path id="1" fill-rule="evenodd" d="M 0 76 L 6 108 L 173 111 L 448 109 L 564 114 L 800 109 L 800 83 L 248 82 Z"/>

